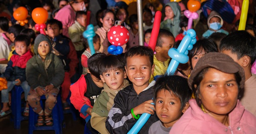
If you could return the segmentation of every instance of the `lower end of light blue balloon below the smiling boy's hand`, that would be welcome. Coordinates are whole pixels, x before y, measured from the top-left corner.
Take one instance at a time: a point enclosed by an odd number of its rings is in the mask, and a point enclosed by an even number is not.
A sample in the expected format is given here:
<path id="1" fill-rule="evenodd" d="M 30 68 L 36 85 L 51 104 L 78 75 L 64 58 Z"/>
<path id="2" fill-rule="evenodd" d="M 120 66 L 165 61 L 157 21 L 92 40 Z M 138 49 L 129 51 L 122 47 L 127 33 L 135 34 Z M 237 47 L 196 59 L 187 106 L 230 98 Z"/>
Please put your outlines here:
<path id="1" fill-rule="evenodd" d="M 154 105 L 154 103 L 150 103 Z M 153 108 L 152 108 L 153 109 Z M 145 123 L 148 121 L 151 114 L 144 113 L 141 115 L 140 119 L 134 124 L 134 126 L 131 128 L 131 130 L 127 134 L 138 134 L 140 129 L 145 125 Z"/>

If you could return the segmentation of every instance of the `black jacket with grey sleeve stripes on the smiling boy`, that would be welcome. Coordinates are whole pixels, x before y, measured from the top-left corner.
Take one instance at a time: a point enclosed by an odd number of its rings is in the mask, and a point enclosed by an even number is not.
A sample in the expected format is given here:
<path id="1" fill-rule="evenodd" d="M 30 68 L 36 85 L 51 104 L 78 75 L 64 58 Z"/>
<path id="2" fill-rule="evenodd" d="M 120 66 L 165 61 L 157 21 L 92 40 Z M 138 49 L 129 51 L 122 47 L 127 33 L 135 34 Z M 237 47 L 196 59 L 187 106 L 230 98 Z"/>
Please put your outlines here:
<path id="1" fill-rule="evenodd" d="M 155 81 L 152 81 L 140 94 L 136 93 L 133 85 L 127 86 L 116 94 L 106 120 L 106 128 L 111 134 L 127 134 L 131 130 L 138 121 L 132 118 L 131 109 L 153 98 L 154 84 Z M 138 134 L 148 134 L 149 127 L 157 120 L 159 119 L 156 114 L 151 115 Z"/>

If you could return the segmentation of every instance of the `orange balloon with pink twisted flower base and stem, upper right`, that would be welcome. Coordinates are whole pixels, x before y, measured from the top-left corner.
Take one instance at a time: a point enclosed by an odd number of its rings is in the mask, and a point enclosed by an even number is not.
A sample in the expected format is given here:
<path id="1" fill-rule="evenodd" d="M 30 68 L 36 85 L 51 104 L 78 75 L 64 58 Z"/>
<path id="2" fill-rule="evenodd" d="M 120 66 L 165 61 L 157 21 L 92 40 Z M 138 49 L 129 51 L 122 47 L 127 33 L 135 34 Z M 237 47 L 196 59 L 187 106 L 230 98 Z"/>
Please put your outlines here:
<path id="1" fill-rule="evenodd" d="M 188 29 L 191 29 L 193 19 L 195 20 L 198 18 L 198 13 L 196 13 L 196 11 L 200 9 L 201 4 L 197 0 L 189 0 L 187 3 L 187 7 L 189 10 L 185 10 L 184 15 L 189 19 Z"/>

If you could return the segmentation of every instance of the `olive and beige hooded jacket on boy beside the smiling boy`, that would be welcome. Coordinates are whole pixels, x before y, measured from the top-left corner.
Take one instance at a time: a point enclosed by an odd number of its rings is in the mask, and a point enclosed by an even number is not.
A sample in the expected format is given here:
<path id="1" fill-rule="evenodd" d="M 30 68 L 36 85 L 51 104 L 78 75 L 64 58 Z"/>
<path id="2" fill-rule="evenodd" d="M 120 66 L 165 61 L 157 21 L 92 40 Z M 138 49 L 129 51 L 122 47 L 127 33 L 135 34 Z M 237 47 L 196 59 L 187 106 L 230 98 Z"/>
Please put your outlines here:
<path id="1" fill-rule="evenodd" d="M 124 80 L 123 84 L 124 86 L 120 90 L 130 85 L 128 80 Z M 111 90 L 106 83 L 104 83 L 103 88 L 102 93 L 93 105 L 90 121 L 92 127 L 100 134 L 109 134 L 105 122 L 108 117 L 108 111 L 114 104 L 114 98 L 120 90 Z"/>

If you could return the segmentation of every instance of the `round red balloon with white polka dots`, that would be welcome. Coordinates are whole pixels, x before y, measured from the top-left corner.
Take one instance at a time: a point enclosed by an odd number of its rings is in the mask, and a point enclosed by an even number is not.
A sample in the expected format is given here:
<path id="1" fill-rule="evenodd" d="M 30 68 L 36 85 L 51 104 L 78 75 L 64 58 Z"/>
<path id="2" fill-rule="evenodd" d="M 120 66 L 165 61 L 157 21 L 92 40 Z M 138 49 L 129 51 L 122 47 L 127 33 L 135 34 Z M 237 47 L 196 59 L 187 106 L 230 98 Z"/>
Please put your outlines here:
<path id="1" fill-rule="evenodd" d="M 112 26 L 108 31 L 108 41 L 114 46 L 123 46 L 129 40 L 129 31 L 124 26 Z"/>

